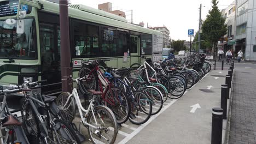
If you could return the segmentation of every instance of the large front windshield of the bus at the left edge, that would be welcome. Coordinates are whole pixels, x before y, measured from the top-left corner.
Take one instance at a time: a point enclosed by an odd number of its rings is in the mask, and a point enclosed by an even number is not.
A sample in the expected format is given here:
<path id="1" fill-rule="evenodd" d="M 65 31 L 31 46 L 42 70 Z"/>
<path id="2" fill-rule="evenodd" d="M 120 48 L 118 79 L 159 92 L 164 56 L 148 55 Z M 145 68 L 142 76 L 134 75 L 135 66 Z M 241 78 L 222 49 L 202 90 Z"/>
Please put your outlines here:
<path id="1" fill-rule="evenodd" d="M 36 26 L 34 19 L 24 19 L 24 33 L 16 33 L 16 25 L 0 21 L 0 58 L 37 58 Z"/>

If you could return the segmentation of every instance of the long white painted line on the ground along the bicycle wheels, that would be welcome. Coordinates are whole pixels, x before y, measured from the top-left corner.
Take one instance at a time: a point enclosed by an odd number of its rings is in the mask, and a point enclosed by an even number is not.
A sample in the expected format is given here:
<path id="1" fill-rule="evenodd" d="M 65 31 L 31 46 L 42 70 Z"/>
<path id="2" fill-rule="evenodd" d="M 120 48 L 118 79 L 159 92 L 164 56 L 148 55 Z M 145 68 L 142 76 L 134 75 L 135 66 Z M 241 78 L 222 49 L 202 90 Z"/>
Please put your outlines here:
<path id="1" fill-rule="evenodd" d="M 208 74 L 210 74 L 210 73 L 207 73 L 205 76 L 202 77 L 202 79 L 205 78 Z M 201 80 L 202 80 L 202 79 L 201 79 Z M 201 80 L 200 80 L 200 81 L 201 81 Z M 197 82 L 197 83 L 199 83 L 199 82 Z M 194 86 L 196 86 L 197 83 L 196 83 Z M 194 87 L 194 86 L 192 86 L 192 87 Z M 192 87 L 191 87 L 191 88 L 192 88 Z M 188 92 L 188 91 L 185 91 L 184 94 L 186 94 L 187 92 Z M 184 94 L 183 94 L 183 95 L 184 95 Z M 166 107 L 162 108 L 162 110 L 161 110 L 159 113 L 157 113 L 156 115 L 151 116 L 151 117 L 148 119 L 148 121 L 147 121 L 146 123 L 141 124 L 141 126 L 139 126 L 139 127 L 138 127 L 135 131 L 133 131 L 131 134 L 129 134 L 128 136 L 126 136 L 125 139 L 121 140 L 118 144 L 124 144 L 124 143 L 128 142 L 129 140 L 131 140 L 132 137 L 134 137 L 135 135 L 137 135 L 137 134 L 139 133 L 139 131 L 141 131 L 144 127 L 146 127 L 149 123 L 151 123 L 156 117 L 158 117 L 162 112 L 164 112 L 168 107 L 170 107 L 172 104 L 174 104 L 177 100 L 178 100 L 178 99 L 173 99 L 173 100 L 171 101 L 171 103 L 169 103 L 168 105 L 166 105 Z"/>

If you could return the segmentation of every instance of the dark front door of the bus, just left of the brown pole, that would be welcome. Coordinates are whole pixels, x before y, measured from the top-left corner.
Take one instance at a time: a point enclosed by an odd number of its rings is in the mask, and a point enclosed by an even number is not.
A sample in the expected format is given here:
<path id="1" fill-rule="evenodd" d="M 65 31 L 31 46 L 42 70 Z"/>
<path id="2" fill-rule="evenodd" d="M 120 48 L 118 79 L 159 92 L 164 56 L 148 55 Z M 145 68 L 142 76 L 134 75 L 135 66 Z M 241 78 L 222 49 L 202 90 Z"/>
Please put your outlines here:
<path id="1" fill-rule="evenodd" d="M 42 93 L 61 92 L 60 27 L 40 23 L 42 80 L 48 80 Z"/>

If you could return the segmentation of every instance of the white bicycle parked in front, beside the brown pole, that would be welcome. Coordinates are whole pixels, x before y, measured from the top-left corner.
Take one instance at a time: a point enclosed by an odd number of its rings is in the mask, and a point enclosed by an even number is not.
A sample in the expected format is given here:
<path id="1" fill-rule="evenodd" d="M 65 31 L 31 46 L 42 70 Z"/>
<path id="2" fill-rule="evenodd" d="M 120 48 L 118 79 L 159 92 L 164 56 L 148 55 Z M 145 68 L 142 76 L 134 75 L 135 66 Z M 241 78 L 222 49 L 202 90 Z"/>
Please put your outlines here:
<path id="1" fill-rule="evenodd" d="M 72 76 L 64 77 L 65 79 L 73 80 L 79 87 L 80 81 L 84 80 L 85 77 L 78 77 L 73 79 Z M 88 109 L 85 110 L 79 99 L 77 88 L 73 88 L 72 93 L 61 93 L 56 100 L 57 106 L 59 106 L 62 118 L 70 121 L 70 118 L 74 117 L 75 114 L 75 103 L 77 104 L 78 111 L 80 114 L 80 124 L 88 128 L 88 134 L 92 143 L 114 143 L 118 134 L 117 120 L 115 119 L 114 113 L 106 106 L 95 105 L 94 102 L 97 96 L 102 95 L 102 92 L 96 92 L 93 90 L 89 91 L 93 94 Z M 85 112 L 85 115 L 84 113 Z M 80 125 L 79 125 L 80 131 Z"/>

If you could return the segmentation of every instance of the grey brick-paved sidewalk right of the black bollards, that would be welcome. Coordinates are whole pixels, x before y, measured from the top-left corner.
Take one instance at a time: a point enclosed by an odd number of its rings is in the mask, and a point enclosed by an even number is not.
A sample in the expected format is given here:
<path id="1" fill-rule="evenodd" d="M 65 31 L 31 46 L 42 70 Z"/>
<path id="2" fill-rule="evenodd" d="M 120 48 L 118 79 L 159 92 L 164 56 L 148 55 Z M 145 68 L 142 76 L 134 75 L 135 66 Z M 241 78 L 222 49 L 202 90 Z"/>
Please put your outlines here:
<path id="1" fill-rule="evenodd" d="M 256 69 L 235 64 L 229 143 L 256 143 Z"/>

